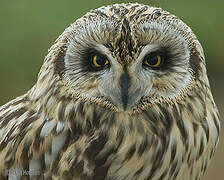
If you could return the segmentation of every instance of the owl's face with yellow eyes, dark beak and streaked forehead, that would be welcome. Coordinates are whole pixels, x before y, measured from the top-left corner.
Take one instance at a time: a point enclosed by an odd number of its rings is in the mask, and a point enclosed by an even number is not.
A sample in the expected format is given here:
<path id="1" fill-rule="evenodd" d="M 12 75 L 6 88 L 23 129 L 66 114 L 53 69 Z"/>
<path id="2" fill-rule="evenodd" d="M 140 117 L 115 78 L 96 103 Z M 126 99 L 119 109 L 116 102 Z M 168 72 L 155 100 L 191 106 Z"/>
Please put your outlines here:
<path id="1" fill-rule="evenodd" d="M 190 30 L 180 20 L 171 21 L 175 16 L 165 19 L 167 13 L 121 4 L 78 19 L 64 56 L 63 78 L 72 91 L 118 111 L 145 99 L 177 98 L 193 79 Z"/>

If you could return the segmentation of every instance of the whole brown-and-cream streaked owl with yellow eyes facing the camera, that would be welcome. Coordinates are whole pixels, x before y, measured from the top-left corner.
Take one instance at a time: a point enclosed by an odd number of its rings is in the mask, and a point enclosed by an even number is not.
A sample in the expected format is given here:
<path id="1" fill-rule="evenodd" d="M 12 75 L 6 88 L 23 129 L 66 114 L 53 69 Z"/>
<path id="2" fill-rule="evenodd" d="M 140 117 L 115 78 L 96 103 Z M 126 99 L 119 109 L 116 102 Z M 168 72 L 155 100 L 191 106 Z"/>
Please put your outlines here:
<path id="1" fill-rule="evenodd" d="M 65 29 L 36 84 L 0 107 L 0 179 L 197 180 L 219 132 L 192 30 L 161 8 L 104 6 Z"/>

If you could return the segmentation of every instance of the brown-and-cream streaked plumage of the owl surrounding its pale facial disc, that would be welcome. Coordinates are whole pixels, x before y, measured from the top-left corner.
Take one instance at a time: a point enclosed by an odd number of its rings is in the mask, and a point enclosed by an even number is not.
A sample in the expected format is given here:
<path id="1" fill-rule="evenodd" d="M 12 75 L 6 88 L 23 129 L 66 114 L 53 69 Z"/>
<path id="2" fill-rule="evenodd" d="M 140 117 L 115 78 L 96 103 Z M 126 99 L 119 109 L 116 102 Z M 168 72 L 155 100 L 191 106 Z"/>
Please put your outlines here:
<path id="1" fill-rule="evenodd" d="M 108 98 L 83 96 L 66 76 L 66 53 L 75 35 L 101 20 L 112 36 L 103 45 L 122 65 L 133 63 L 145 45 L 140 24 L 152 21 L 181 34 L 190 50 L 189 84 L 174 98 L 144 96 L 127 111 Z M 108 28 L 110 22 L 116 28 Z M 94 33 L 85 38 L 101 37 Z M 0 179 L 13 178 L 5 173 L 10 169 L 37 173 L 18 179 L 199 179 L 220 133 L 204 61 L 191 29 L 167 11 L 137 3 L 90 11 L 50 48 L 34 87 L 0 107 Z M 178 87 L 167 81 L 154 86 L 175 92 Z M 91 81 L 81 87 L 88 92 L 97 86 Z"/>

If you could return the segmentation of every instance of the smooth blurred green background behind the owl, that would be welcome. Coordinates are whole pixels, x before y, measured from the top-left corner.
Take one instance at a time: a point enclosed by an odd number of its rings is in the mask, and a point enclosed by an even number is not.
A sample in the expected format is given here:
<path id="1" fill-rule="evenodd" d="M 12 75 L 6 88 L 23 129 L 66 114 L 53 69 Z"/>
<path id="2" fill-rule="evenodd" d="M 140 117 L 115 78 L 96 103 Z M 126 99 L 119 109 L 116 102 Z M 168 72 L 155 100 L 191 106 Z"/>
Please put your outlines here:
<path id="1" fill-rule="evenodd" d="M 0 105 L 25 93 L 35 83 L 48 48 L 63 30 L 90 9 L 136 2 L 115 0 L 1 0 Z M 207 60 L 214 98 L 224 117 L 224 1 L 139 0 L 160 6 L 181 18 L 200 40 Z M 222 133 L 223 134 L 223 133 Z M 223 136 L 203 180 L 224 179 Z"/>

